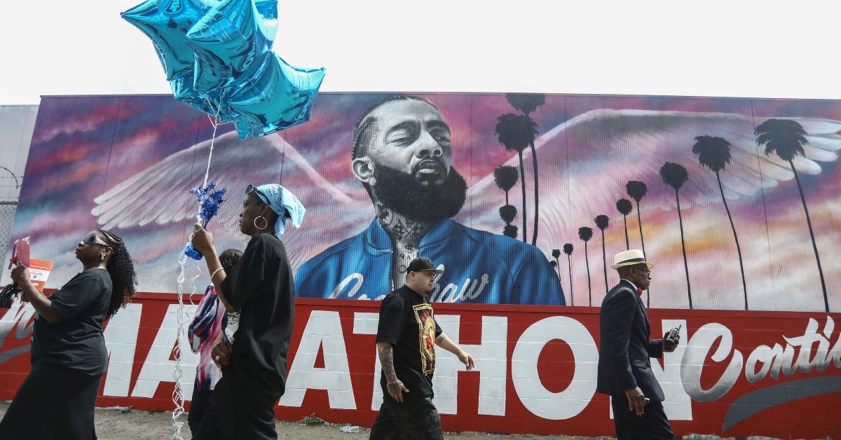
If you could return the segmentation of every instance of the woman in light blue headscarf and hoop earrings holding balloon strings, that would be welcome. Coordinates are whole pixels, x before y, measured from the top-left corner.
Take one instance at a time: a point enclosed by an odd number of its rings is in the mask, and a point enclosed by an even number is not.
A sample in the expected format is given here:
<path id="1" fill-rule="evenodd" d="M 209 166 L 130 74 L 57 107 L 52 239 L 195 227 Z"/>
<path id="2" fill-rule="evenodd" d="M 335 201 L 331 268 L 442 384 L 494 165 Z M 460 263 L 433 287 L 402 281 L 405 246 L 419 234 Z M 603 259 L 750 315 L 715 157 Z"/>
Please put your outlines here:
<path id="1" fill-rule="evenodd" d="M 194 226 L 193 247 L 204 255 L 225 310 L 239 312 L 239 323 L 233 329 L 229 319 L 225 337 L 214 344 L 211 355 L 222 368 L 222 379 L 193 439 L 278 437 L 274 407 L 286 387 L 295 305 L 292 268 L 280 236 L 287 220 L 300 227 L 304 212 L 280 185 L 249 185 L 240 231 L 251 240 L 230 272 L 222 268 L 213 235 Z"/>

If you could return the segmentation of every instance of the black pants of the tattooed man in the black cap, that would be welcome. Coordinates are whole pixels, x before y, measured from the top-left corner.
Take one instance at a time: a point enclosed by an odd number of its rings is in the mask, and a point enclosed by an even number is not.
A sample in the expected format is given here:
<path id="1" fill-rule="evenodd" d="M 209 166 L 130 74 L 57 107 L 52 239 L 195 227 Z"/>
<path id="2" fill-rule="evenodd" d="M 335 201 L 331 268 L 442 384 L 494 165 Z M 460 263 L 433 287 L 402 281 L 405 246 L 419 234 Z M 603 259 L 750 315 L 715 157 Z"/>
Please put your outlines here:
<path id="1" fill-rule="evenodd" d="M 441 416 L 429 396 L 406 399 L 403 403 L 383 396 L 370 440 L 443 440 Z"/>

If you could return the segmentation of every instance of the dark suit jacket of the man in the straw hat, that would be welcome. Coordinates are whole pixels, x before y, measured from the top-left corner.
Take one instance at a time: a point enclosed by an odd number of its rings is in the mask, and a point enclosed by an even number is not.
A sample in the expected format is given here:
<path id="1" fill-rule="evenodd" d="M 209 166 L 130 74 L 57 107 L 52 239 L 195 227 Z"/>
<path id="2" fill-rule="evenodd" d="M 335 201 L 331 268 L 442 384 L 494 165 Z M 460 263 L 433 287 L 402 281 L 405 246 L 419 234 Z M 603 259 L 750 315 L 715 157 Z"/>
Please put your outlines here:
<path id="1" fill-rule="evenodd" d="M 601 302 L 599 313 L 599 378 L 596 391 L 627 399 L 625 390 L 643 390 L 648 399 L 663 401 L 663 389 L 651 371 L 651 358 L 663 356 L 663 340 L 648 340 L 651 325 L 633 284 L 621 280 Z"/>

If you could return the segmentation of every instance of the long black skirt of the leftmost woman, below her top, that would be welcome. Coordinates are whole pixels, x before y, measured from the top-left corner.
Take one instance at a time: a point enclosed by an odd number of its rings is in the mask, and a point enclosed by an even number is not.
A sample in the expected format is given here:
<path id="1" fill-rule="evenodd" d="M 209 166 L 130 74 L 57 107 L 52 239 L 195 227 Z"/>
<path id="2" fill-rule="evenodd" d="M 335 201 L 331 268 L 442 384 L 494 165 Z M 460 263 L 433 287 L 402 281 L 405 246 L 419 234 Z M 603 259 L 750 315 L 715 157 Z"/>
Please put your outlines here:
<path id="1" fill-rule="evenodd" d="M 33 365 L 0 421 L 0 438 L 95 440 L 93 408 L 100 379 L 102 374 Z"/>

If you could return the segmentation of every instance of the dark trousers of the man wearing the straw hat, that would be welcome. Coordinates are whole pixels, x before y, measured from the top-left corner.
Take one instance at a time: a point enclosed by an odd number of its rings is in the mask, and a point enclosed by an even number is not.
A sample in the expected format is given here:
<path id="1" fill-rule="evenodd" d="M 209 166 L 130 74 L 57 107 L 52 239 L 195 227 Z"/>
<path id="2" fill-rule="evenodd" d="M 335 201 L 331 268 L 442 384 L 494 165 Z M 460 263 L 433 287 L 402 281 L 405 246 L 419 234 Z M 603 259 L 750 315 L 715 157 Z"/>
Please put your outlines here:
<path id="1" fill-rule="evenodd" d="M 613 423 L 617 440 L 672 440 L 674 434 L 663 411 L 663 402 L 650 401 L 642 416 L 628 409 L 628 401 L 613 396 Z"/>

